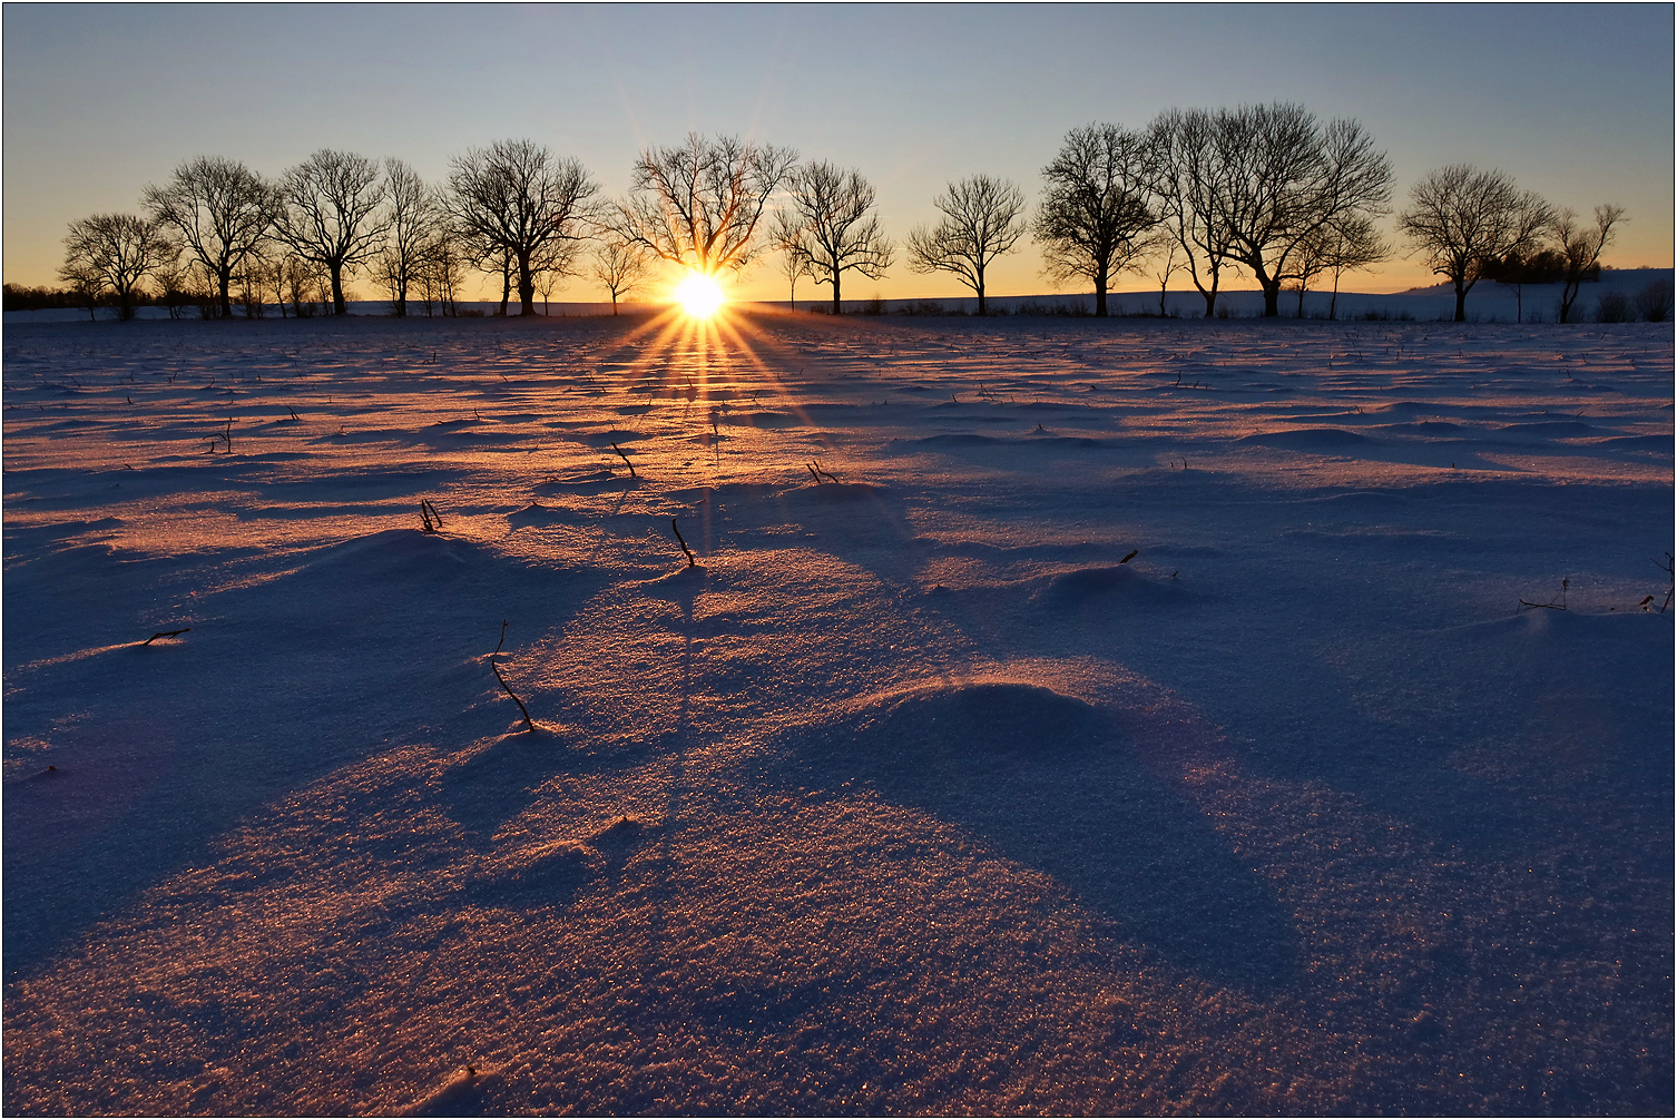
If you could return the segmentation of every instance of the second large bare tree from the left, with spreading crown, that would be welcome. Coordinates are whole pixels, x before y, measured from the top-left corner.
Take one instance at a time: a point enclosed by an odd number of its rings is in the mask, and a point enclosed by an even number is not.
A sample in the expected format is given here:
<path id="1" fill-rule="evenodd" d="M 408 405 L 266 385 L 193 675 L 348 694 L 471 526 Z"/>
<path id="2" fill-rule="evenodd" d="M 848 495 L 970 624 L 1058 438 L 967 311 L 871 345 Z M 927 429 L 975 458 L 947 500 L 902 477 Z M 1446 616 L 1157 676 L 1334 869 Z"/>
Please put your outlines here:
<path id="1" fill-rule="evenodd" d="M 143 201 L 154 220 L 179 231 L 215 285 L 221 315 L 231 317 L 233 272 L 268 235 L 273 189 L 241 163 L 196 156 L 166 186 L 148 186 Z"/>

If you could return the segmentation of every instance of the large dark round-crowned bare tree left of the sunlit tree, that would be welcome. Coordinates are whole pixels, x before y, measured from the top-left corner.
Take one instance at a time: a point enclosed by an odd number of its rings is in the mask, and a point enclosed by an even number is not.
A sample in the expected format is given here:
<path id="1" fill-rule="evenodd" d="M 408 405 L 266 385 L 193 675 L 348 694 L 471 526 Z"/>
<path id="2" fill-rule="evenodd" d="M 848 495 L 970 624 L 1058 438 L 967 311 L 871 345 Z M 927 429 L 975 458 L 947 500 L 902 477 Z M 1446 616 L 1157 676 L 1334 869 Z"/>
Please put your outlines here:
<path id="1" fill-rule="evenodd" d="M 459 240 L 503 275 L 501 307 L 513 277 L 520 315 L 535 315 L 537 277 L 569 270 L 570 251 L 592 221 L 599 184 L 569 156 L 528 141 L 495 141 L 453 161 L 448 208 Z"/>

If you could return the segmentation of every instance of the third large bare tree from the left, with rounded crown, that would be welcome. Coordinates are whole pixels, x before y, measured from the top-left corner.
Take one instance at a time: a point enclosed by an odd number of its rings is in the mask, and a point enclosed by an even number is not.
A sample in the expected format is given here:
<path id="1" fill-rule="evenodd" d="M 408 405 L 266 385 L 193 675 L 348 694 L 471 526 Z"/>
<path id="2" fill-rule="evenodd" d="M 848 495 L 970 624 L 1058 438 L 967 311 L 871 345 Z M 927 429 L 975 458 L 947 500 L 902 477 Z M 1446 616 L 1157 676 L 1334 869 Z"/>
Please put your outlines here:
<path id="1" fill-rule="evenodd" d="M 293 253 L 312 260 L 332 278 L 332 314 L 349 310 L 344 277 L 352 275 L 384 243 L 389 218 L 384 178 L 366 156 L 322 148 L 280 178 L 273 233 Z"/>

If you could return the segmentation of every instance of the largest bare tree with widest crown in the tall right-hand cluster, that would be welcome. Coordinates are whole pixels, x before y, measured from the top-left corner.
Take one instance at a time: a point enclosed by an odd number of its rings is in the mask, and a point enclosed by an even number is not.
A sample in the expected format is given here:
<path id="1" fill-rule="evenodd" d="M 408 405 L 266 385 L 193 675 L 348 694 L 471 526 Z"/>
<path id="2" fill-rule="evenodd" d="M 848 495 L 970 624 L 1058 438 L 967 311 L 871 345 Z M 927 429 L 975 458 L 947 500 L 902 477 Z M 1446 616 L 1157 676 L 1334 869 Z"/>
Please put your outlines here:
<path id="1" fill-rule="evenodd" d="M 1387 213 L 1392 164 L 1357 121 L 1321 126 L 1291 102 L 1223 109 L 1216 132 L 1229 257 L 1253 273 L 1263 314 L 1275 317 L 1281 285 L 1300 278 L 1298 253 L 1323 226 Z"/>

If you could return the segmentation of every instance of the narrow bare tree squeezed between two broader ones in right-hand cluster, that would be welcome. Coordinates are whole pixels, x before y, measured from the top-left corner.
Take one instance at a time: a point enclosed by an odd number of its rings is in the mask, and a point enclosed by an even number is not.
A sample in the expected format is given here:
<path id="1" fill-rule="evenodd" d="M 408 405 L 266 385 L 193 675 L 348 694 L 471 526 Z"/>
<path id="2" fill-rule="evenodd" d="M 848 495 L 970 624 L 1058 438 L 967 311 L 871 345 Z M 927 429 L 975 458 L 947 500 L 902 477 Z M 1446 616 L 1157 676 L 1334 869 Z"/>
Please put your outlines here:
<path id="1" fill-rule="evenodd" d="M 1182 248 L 1182 267 L 1206 300 L 1206 319 L 1218 310 L 1223 268 L 1234 248 L 1223 196 L 1229 168 L 1218 127 L 1204 109 L 1171 109 L 1147 126 L 1150 186 L 1159 211 Z"/>

